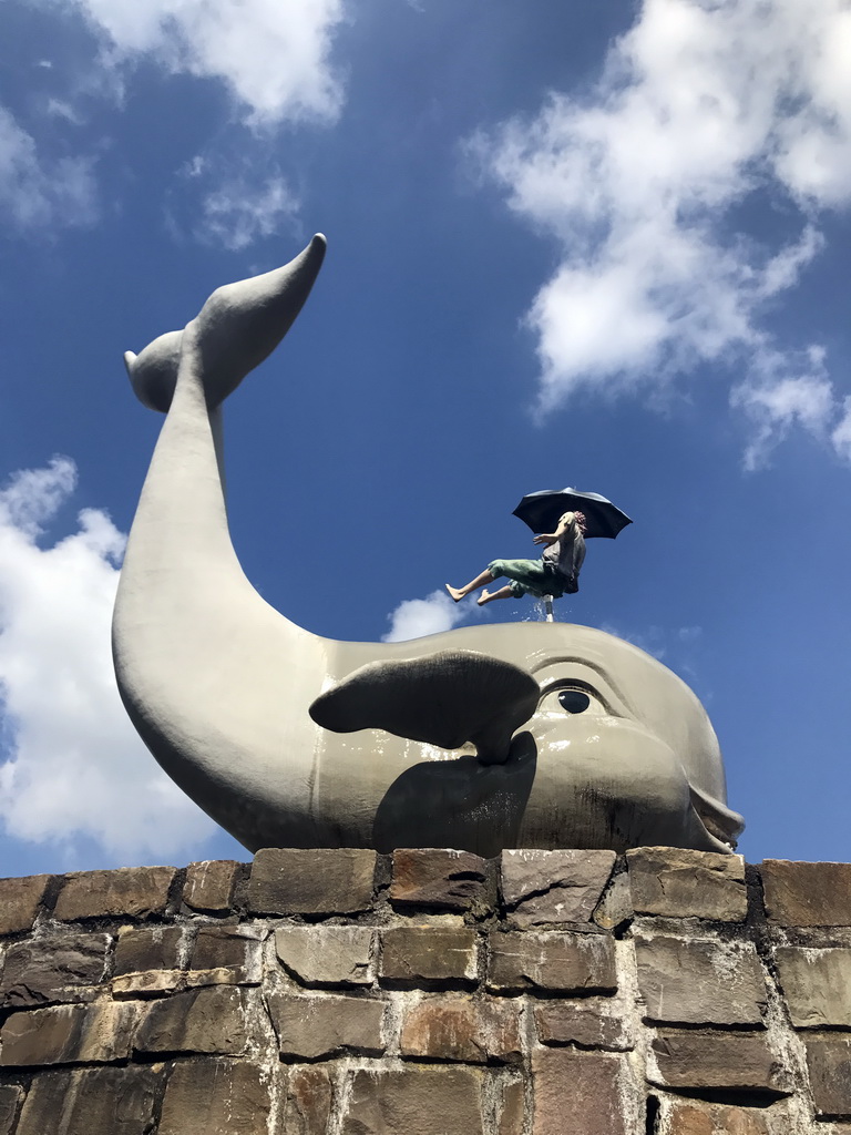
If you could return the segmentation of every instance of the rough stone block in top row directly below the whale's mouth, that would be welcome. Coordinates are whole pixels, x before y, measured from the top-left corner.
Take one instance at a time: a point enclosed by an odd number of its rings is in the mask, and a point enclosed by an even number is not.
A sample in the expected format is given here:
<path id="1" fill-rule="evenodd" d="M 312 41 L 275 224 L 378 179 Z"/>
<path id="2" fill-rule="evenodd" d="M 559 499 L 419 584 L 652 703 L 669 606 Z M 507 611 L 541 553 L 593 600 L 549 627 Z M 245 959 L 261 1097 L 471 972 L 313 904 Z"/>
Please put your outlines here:
<path id="1" fill-rule="evenodd" d="M 637 914 L 743 922 L 748 917 L 744 859 L 685 848 L 626 852 Z"/>

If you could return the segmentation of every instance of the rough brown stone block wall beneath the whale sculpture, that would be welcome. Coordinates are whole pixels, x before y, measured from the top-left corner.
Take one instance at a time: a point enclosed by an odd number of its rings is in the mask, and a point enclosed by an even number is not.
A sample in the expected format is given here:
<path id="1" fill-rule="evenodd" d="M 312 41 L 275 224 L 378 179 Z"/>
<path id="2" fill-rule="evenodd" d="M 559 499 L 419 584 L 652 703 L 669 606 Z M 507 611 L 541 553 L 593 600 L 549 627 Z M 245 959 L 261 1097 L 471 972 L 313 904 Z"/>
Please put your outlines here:
<path id="1" fill-rule="evenodd" d="M 0 1135 L 851 1135 L 849 864 L 267 850 L 0 935 Z"/>

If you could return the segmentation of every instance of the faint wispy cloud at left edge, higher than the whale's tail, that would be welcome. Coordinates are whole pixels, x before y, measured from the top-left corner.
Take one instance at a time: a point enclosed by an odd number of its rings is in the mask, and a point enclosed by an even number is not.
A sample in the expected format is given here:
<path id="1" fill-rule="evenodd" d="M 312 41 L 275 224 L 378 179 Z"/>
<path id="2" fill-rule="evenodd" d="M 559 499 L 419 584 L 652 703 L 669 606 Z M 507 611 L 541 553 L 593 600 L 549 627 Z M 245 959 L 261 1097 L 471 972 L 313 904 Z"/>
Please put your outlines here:
<path id="1" fill-rule="evenodd" d="M 0 215 L 17 229 L 91 225 L 96 192 L 89 158 L 45 158 L 35 140 L 0 107 Z"/>

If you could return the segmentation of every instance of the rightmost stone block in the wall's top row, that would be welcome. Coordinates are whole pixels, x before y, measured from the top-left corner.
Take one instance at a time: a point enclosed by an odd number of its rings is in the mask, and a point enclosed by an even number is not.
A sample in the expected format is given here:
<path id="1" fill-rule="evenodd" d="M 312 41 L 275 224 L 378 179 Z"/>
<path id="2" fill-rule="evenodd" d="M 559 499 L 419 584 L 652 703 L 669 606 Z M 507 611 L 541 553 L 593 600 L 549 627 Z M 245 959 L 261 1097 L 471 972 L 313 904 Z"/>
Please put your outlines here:
<path id="1" fill-rule="evenodd" d="M 765 909 L 781 926 L 851 926 L 851 863 L 766 859 Z"/>

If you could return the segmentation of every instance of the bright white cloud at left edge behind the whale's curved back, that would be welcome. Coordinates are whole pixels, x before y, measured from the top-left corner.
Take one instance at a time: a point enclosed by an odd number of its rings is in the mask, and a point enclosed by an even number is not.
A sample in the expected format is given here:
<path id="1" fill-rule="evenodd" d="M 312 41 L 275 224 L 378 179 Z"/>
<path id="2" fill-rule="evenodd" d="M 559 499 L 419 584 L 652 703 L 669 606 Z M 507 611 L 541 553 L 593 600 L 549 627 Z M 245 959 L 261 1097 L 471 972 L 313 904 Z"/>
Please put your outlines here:
<path id="1" fill-rule="evenodd" d="M 124 860 L 161 860 L 214 826 L 155 765 L 118 697 L 109 642 L 125 537 L 86 508 L 70 536 L 37 543 L 75 482 L 74 463 L 56 457 L 0 490 L 0 821 L 70 858 L 83 836 Z"/>

